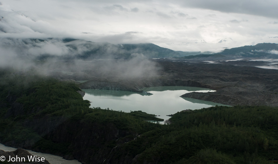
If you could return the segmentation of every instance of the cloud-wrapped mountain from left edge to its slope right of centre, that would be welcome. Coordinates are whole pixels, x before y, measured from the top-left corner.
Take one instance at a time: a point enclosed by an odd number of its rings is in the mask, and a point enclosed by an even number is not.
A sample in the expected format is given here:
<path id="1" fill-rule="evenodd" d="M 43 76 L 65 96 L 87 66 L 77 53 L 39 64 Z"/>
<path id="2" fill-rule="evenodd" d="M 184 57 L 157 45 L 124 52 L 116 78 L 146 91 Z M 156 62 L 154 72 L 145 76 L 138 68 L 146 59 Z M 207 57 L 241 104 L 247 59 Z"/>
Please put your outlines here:
<path id="1" fill-rule="evenodd" d="M 78 39 L 16 39 L 1 38 L 0 49 L 13 53 L 13 56 L 43 60 L 59 59 L 142 59 L 181 57 L 171 49 L 162 48 L 152 43 L 118 44 L 108 42 L 90 42 Z M 7 53 L 1 54 L 3 59 Z M 9 55 L 10 56 L 10 55 Z"/>

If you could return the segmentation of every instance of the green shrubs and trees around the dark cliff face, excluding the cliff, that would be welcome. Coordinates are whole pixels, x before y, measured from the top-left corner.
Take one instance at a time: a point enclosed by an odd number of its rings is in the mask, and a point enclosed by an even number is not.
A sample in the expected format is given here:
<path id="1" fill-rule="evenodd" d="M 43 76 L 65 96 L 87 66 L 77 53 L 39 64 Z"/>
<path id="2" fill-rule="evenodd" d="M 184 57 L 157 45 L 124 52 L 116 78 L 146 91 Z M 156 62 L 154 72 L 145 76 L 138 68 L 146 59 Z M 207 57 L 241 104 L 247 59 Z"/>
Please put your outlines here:
<path id="1" fill-rule="evenodd" d="M 118 129 L 140 134 L 120 145 L 123 152 L 137 156 L 137 163 L 270 163 L 278 160 L 277 107 L 210 107 L 174 114 L 167 124 L 142 111 L 131 113 L 89 107 L 77 85 L 37 75 L 0 71 L 0 141 L 20 145 L 33 141 L 34 148 L 68 154 L 69 143 L 55 143 L 39 135 L 26 122 L 40 118 L 66 118 L 69 122 L 112 123 Z M 15 101 L 23 104 L 12 113 Z M 7 115 L 7 113 L 11 113 Z"/>

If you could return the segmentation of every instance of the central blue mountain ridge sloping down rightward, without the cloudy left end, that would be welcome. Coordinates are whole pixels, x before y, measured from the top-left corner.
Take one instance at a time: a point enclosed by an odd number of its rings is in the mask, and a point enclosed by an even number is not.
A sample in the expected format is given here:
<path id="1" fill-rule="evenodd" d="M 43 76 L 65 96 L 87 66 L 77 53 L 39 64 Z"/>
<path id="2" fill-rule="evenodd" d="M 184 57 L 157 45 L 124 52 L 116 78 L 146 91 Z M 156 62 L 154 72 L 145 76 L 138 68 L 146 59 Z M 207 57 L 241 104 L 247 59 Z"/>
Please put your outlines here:
<path id="1" fill-rule="evenodd" d="M 63 39 L 63 42 L 72 49 L 86 48 L 83 52 L 75 54 L 79 59 L 129 59 L 132 57 L 152 59 L 182 56 L 178 52 L 152 43 L 114 45 L 108 42 L 99 43 L 73 39 Z"/>

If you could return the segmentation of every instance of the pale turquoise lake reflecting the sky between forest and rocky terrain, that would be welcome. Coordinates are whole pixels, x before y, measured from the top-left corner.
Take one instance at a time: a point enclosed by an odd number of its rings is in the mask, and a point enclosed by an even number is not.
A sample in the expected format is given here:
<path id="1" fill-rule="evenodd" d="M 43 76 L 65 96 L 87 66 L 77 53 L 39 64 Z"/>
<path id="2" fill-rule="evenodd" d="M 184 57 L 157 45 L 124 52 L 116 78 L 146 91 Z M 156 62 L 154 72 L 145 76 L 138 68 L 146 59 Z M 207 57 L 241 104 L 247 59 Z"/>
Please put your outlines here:
<path id="1" fill-rule="evenodd" d="M 169 119 L 167 115 L 175 114 L 186 109 L 201 109 L 219 103 L 182 98 L 181 95 L 189 92 L 213 92 L 214 90 L 198 87 L 163 86 L 143 88 L 153 95 L 122 91 L 122 90 L 98 90 L 82 89 L 86 93 L 84 100 L 91 101 L 91 107 L 108 108 L 116 111 L 130 112 L 142 110 L 149 114 L 155 114 L 158 118 Z M 228 106 L 228 105 L 224 105 Z M 158 116 L 159 115 L 159 116 Z"/>

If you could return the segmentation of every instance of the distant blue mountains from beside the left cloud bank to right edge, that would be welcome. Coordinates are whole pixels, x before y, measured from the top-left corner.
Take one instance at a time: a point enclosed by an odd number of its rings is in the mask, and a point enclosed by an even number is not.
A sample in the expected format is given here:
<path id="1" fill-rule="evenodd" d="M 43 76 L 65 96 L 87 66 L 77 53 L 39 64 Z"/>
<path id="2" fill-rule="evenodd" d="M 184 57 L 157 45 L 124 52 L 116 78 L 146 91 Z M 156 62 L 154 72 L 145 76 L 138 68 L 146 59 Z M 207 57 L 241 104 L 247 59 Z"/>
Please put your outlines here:
<path id="1" fill-rule="evenodd" d="M 68 47 L 78 49 L 85 46 L 86 51 L 75 54 L 80 59 L 129 59 L 134 56 L 152 58 L 278 58 L 278 44 L 260 43 L 254 46 L 243 46 L 224 49 L 219 53 L 213 52 L 183 52 L 159 47 L 152 43 L 119 44 L 108 42 L 97 43 L 84 40 L 63 39 Z"/>

